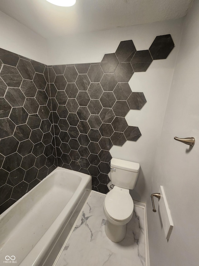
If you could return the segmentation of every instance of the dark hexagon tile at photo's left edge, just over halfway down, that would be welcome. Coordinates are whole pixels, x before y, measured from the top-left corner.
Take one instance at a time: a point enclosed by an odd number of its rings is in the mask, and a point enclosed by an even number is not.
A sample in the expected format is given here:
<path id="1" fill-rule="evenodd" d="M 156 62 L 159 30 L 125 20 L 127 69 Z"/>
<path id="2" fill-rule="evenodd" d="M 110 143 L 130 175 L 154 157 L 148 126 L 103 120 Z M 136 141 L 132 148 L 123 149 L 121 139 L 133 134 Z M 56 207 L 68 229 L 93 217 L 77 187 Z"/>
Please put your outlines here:
<path id="1" fill-rule="evenodd" d="M 13 136 L 8 138 L 3 138 L 0 140 L 0 153 L 2 155 L 7 156 L 14 152 L 16 152 L 19 146 L 19 141 Z"/>

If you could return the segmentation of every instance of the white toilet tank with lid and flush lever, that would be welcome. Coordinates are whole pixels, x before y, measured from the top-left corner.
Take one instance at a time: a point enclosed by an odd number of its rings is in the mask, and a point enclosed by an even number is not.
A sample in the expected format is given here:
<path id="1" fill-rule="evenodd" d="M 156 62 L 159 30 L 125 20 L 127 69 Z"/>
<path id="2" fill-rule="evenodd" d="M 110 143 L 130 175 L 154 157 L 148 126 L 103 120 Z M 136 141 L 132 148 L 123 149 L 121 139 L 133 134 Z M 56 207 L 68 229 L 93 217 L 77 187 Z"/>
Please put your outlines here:
<path id="1" fill-rule="evenodd" d="M 111 182 L 115 186 L 133 189 L 136 185 L 140 164 L 120 159 L 111 159 Z M 115 170 L 114 170 L 115 169 Z"/>

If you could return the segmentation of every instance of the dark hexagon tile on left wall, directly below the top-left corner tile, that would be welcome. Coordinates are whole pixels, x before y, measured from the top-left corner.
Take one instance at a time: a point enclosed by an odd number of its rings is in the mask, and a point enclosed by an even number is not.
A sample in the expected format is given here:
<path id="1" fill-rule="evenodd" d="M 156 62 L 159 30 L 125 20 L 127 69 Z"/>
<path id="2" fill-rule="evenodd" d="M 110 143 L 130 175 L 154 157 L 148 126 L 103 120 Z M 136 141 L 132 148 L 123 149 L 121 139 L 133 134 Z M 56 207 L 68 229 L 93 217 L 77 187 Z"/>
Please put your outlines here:
<path id="1" fill-rule="evenodd" d="M 0 76 L 8 87 L 19 88 L 21 85 L 22 77 L 16 67 L 3 65 Z"/>

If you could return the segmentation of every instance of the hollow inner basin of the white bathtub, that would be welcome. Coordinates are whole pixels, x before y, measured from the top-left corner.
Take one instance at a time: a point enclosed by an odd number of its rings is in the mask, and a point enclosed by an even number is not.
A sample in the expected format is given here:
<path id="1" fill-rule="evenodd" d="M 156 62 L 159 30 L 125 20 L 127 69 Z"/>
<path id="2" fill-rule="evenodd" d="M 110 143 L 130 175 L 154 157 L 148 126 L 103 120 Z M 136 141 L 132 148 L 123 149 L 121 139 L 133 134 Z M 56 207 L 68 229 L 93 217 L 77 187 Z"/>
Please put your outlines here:
<path id="1" fill-rule="evenodd" d="M 58 167 L 11 206 L 0 219 L 0 254 L 14 250 L 18 262 L 22 261 L 62 212 L 81 181 L 78 172 Z"/>

